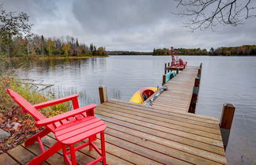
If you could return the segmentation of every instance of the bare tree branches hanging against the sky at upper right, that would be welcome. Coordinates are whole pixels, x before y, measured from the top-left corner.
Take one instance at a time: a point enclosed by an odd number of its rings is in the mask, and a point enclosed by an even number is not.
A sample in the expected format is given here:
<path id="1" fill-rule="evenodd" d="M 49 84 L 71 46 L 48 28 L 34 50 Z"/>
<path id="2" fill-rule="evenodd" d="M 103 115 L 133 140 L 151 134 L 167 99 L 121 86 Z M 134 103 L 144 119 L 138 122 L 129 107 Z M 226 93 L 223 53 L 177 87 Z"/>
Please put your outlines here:
<path id="1" fill-rule="evenodd" d="M 243 20 L 256 17 L 251 0 L 175 0 L 176 8 L 183 9 L 179 16 L 189 17 L 184 22 L 191 31 L 205 30 L 216 24 L 236 26 Z"/>

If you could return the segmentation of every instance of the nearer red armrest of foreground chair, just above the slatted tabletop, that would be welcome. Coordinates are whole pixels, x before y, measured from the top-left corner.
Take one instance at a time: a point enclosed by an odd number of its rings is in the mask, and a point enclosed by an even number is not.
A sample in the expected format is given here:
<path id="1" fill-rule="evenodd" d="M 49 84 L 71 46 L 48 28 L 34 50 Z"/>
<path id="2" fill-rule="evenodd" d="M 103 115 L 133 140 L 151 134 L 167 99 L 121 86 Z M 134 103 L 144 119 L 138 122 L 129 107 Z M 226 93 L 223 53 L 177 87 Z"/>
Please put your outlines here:
<path id="1" fill-rule="evenodd" d="M 84 113 L 86 111 L 93 111 L 94 108 L 96 108 L 96 104 L 90 104 L 88 106 L 85 106 L 85 107 L 80 107 L 80 108 L 77 108 L 73 111 L 68 111 L 64 114 L 58 114 L 54 117 L 51 117 L 51 118 L 45 118 L 43 120 L 40 120 L 38 122 L 36 122 L 36 126 L 45 126 L 45 125 L 48 125 L 48 124 L 51 124 L 53 122 L 58 122 L 58 121 L 61 121 L 63 119 L 66 119 L 66 118 L 70 118 L 72 116 L 75 116 L 77 114 L 81 114 L 81 113 Z"/>

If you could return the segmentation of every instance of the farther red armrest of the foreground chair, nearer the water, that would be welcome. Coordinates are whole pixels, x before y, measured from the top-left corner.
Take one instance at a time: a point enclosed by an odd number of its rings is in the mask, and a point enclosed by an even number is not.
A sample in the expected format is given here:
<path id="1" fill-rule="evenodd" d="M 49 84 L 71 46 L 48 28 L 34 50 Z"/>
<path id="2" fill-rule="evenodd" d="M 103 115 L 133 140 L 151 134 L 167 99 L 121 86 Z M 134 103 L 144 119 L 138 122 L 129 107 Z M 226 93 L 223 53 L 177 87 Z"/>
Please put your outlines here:
<path id="1" fill-rule="evenodd" d="M 53 99 L 53 100 L 46 101 L 46 102 L 43 102 L 43 103 L 36 103 L 33 106 L 36 109 L 40 109 L 40 108 L 43 108 L 43 107 L 50 107 L 50 106 L 56 105 L 58 103 L 64 103 L 64 102 L 67 102 L 67 101 L 71 101 L 73 99 L 77 99 L 78 96 L 79 95 L 66 96 L 66 97 L 63 97 L 63 98 L 60 98 L 60 99 Z"/>

